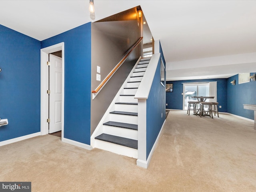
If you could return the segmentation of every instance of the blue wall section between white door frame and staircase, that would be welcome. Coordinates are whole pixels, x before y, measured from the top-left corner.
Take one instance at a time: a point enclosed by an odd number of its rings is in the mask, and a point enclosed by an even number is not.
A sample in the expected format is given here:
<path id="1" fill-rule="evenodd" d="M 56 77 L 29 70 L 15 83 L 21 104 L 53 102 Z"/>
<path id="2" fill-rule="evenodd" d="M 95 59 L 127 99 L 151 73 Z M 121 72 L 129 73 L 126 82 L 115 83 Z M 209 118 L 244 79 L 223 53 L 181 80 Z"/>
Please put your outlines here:
<path id="1" fill-rule="evenodd" d="M 41 42 L 64 42 L 64 138 L 90 145 L 91 23 Z"/>

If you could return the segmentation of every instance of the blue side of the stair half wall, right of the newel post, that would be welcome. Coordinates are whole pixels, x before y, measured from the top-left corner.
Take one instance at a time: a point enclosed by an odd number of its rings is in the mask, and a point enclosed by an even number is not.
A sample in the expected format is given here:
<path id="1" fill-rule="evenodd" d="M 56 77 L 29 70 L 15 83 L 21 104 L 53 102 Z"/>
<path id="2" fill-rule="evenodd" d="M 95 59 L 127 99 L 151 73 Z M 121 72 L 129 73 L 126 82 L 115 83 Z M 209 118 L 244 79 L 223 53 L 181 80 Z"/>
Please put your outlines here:
<path id="1" fill-rule="evenodd" d="M 160 45 L 161 46 L 161 45 Z M 160 50 L 161 51 L 161 50 Z M 161 57 L 164 57 L 161 53 Z M 164 65 L 165 61 L 163 59 Z M 148 158 L 156 138 L 162 128 L 165 120 L 165 87 L 161 81 L 161 60 L 158 61 L 158 66 L 152 83 L 152 87 L 147 99 L 147 141 L 146 141 L 146 158 Z"/>

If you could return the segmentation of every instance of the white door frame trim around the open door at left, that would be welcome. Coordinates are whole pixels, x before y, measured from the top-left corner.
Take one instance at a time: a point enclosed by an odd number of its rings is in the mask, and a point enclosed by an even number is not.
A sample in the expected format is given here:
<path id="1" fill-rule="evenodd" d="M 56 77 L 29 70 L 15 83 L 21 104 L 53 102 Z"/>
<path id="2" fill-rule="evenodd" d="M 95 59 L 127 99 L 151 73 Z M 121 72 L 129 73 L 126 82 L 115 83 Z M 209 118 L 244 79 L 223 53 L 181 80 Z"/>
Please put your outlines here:
<path id="1" fill-rule="evenodd" d="M 61 140 L 63 141 L 64 136 L 64 42 L 42 48 L 41 49 L 41 97 L 40 97 L 40 103 L 41 103 L 41 115 L 40 115 L 40 132 L 41 135 L 48 134 L 48 123 L 46 120 L 48 119 L 48 94 L 46 93 L 46 90 L 48 90 L 48 54 L 60 51 L 62 50 L 62 112 L 61 112 L 61 118 L 62 118 L 62 126 L 61 126 Z"/>

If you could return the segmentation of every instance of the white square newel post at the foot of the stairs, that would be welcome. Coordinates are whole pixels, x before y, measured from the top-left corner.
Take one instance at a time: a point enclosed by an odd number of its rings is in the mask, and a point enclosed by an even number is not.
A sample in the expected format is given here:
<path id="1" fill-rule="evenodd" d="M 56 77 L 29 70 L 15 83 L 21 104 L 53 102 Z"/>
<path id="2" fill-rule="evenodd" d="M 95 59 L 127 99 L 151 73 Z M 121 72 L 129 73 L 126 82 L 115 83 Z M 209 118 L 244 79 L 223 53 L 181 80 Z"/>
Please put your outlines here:
<path id="1" fill-rule="evenodd" d="M 138 99 L 138 159 L 137 166 L 148 168 L 146 148 L 147 100 Z"/>

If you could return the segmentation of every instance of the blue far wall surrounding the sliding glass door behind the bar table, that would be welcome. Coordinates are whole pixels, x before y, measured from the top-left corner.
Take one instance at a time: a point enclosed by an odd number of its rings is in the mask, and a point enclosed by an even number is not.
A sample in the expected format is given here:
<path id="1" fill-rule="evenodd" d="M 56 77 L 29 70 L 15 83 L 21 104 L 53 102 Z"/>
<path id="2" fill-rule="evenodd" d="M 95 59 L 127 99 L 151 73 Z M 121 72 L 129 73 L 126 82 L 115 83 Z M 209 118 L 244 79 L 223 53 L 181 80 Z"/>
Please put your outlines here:
<path id="1" fill-rule="evenodd" d="M 173 92 L 166 92 L 166 106 L 167 109 L 183 109 L 183 84 L 191 82 L 212 82 L 217 81 L 217 101 L 222 108 L 219 112 L 228 112 L 227 110 L 227 79 L 202 79 L 202 80 L 182 80 L 182 81 L 168 81 L 167 84 L 173 84 Z"/>

